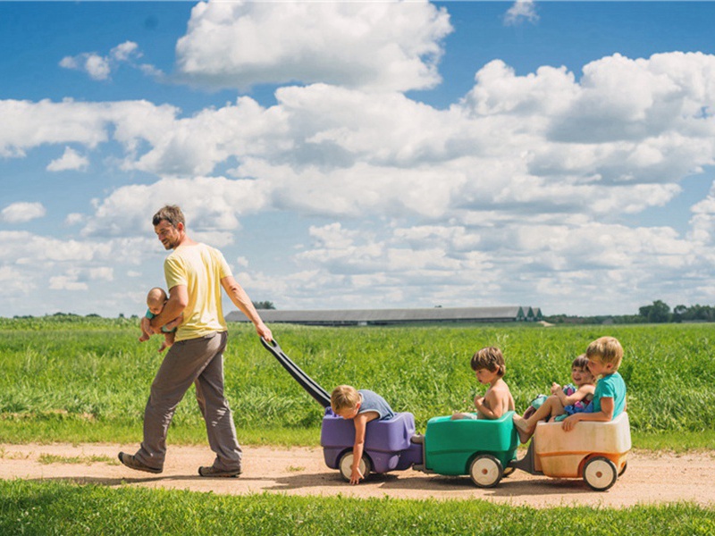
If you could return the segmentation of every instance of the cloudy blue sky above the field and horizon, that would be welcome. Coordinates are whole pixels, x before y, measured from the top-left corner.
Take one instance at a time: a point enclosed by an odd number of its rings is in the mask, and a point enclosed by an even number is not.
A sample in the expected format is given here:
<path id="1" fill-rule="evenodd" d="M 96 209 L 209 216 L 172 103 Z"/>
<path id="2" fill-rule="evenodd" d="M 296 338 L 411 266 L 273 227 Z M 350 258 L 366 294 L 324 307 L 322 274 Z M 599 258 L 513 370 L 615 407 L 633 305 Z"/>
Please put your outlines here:
<path id="1" fill-rule="evenodd" d="M 0 316 L 715 302 L 715 2 L 0 2 Z M 227 303 L 224 312 L 233 310 Z"/>

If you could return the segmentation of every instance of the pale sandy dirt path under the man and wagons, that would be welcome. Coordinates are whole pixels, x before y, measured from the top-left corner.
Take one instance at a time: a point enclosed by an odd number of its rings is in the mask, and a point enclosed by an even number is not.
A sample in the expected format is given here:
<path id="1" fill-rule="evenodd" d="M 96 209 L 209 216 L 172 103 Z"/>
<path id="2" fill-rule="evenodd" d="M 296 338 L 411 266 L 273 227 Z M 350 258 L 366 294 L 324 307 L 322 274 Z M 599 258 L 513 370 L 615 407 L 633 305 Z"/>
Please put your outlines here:
<path id="1" fill-rule="evenodd" d="M 715 451 L 683 456 L 631 453 L 627 472 L 605 492 L 581 480 L 557 480 L 516 471 L 494 489 L 476 488 L 468 477 L 445 477 L 413 470 L 371 475 L 349 486 L 324 465 L 320 448 L 245 447 L 238 479 L 205 479 L 199 465 L 210 464 L 208 447 L 169 448 L 164 473 L 139 473 L 119 465 L 117 452 L 136 445 L 0 445 L 0 478 L 93 482 L 106 486 L 147 486 L 215 493 L 263 491 L 295 495 L 391 498 L 484 498 L 531 507 L 570 504 L 629 507 L 636 504 L 693 501 L 715 507 Z"/>

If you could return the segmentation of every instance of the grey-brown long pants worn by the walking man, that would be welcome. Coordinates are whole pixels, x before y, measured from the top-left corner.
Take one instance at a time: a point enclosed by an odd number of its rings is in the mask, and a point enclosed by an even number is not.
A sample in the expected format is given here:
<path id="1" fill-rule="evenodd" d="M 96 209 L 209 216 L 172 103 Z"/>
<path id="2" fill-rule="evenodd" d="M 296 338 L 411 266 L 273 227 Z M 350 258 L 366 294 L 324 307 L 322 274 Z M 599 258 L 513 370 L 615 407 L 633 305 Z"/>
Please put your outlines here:
<path id="1" fill-rule="evenodd" d="M 241 449 L 231 408 L 223 396 L 226 339 L 225 331 L 216 332 L 200 339 L 181 340 L 169 348 L 151 384 L 144 410 L 144 440 L 135 455 L 142 464 L 164 467 L 169 424 L 181 398 L 191 383 L 196 383 L 208 444 L 216 454 L 214 467 L 223 471 L 240 469 Z"/>

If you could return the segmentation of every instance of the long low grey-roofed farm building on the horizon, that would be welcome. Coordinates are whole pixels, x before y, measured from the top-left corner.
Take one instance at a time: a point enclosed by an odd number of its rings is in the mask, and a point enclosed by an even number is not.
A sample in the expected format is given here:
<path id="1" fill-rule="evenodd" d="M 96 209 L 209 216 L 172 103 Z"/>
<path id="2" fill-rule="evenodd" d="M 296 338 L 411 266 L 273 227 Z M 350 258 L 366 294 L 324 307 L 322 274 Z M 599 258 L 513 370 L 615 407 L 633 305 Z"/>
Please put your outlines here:
<path id="1" fill-rule="evenodd" d="M 543 319 L 539 307 L 433 307 L 425 309 L 332 309 L 323 311 L 258 311 L 266 323 L 314 326 L 367 326 L 416 322 L 534 322 Z M 228 322 L 248 322 L 240 311 L 226 315 Z"/>

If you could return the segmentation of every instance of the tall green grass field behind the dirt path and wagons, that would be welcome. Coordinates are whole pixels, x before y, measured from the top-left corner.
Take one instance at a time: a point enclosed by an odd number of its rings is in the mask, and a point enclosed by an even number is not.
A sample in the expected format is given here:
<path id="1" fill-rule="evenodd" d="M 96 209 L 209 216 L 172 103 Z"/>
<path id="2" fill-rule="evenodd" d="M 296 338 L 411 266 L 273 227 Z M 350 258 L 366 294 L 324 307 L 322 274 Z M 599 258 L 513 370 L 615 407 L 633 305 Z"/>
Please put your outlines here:
<path id="1" fill-rule="evenodd" d="M 715 360 L 709 324 L 563 326 L 499 324 L 387 328 L 273 325 L 282 348 L 315 381 L 374 389 L 417 428 L 469 406 L 483 392 L 469 368 L 478 348 L 502 348 L 505 380 L 524 409 L 551 381 L 569 381 L 572 358 L 604 334 L 620 339 L 620 372 L 636 448 L 715 448 Z M 0 319 L 0 442 L 140 440 L 158 338 L 137 341 L 136 321 Z M 263 348 L 248 325 L 231 325 L 226 394 L 241 442 L 315 445 L 322 408 Z M 169 432 L 175 444 L 206 441 L 193 389 Z M 663 440 L 665 438 L 665 440 Z"/>

